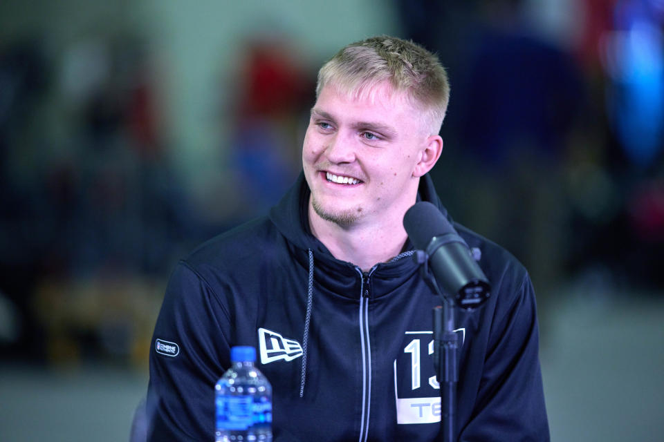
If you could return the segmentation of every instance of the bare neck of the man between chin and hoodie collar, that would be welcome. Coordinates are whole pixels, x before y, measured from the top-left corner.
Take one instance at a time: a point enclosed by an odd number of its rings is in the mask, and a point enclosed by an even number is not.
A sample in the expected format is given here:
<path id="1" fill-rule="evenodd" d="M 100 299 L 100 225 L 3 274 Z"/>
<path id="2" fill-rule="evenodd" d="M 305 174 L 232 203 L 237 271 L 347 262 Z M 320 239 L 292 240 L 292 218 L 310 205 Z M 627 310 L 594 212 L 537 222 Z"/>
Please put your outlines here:
<path id="1" fill-rule="evenodd" d="M 408 238 L 403 228 L 404 214 L 405 211 L 381 223 L 356 223 L 341 227 L 320 218 L 311 201 L 308 207 L 309 226 L 313 236 L 327 247 L 332 256 L 351 262 L 362 271 L 369 271 L 379 262 L 387 262 L 401 252 Z"/>

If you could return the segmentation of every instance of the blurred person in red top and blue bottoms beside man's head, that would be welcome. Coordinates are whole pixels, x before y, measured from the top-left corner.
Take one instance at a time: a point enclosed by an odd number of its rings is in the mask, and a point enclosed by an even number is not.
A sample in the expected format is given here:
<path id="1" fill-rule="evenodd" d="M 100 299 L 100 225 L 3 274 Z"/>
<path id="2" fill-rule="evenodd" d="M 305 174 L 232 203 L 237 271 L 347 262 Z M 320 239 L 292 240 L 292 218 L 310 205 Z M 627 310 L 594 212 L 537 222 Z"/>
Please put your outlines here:
<path id="1" fill-rule="evenodd" d="M 299 173 L 301 122 L 308 118 L 313 85 L 290 37 L 253 36 L 234 78 L 229 186 L 225 208 L 239 224 L 262 215 Z M 241 220 L 241 221 L 239 221 Z"/>

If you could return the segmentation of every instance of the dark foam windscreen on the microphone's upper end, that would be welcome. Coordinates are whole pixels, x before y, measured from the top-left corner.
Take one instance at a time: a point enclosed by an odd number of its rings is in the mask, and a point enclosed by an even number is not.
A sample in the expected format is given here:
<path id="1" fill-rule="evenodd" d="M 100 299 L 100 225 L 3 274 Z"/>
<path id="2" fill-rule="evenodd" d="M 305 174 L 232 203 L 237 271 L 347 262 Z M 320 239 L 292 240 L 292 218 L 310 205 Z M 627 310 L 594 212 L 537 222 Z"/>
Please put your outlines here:
<path id="1" fill-rule="evenodd" d="M 427 201 L 416 203 L 406 211 L 403 227 L 416 249 L 425 250 L 434 236 L 456 233 L 441 211 Z"/>

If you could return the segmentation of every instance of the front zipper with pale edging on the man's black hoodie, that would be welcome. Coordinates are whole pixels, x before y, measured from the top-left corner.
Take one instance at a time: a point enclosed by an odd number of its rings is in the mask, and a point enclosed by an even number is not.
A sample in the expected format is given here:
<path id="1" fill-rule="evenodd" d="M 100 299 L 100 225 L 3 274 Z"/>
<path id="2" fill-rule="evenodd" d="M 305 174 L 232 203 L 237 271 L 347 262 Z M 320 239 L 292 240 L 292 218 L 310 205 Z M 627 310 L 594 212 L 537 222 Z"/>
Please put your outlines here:
<path id="1" fill-rule="evenodd" d="M 360 284 L 360 343 L 362 344 L 362 422 L 360 423 L 360 442 L 369 438 L 369 410 L 371 410 L 371 344 L 369 343 L 369 281 L 371 273 L 377 266 L 371 267 L 369 272 L 363 272 L 356 267 L 362 284 Z"/>

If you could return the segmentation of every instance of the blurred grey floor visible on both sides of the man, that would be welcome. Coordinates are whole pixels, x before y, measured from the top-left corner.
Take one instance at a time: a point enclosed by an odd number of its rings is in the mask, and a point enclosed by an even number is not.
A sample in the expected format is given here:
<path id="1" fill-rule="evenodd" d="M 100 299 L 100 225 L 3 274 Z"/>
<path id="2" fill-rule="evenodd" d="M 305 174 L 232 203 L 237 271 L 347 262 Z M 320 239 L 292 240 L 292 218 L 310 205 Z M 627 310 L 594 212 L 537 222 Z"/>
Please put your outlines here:
<path id="1" fill-rule="evenodd" d="M 664 296 L 568 298 L 542 336 L 552 440 L 664 440 Z M 146 382 L 107 367 L 0 367 L 0 441 L 127 441 Z"/>

